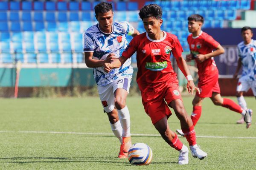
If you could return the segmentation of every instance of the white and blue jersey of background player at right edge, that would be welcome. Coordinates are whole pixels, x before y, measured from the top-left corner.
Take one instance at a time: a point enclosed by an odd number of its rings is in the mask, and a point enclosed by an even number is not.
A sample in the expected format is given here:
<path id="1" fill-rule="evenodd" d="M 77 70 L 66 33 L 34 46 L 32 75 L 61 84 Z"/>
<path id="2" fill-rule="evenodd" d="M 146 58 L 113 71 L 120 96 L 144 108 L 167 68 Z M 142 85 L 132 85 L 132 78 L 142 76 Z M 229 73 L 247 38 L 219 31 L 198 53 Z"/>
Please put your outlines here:
<path id="1" fill-rule="evenodd" d="M 246 81 L 256 80 L 256 40 L 251 40 L 247 45 L 238 44 L 239 57 L 243 65 L 242 76 Z"/>

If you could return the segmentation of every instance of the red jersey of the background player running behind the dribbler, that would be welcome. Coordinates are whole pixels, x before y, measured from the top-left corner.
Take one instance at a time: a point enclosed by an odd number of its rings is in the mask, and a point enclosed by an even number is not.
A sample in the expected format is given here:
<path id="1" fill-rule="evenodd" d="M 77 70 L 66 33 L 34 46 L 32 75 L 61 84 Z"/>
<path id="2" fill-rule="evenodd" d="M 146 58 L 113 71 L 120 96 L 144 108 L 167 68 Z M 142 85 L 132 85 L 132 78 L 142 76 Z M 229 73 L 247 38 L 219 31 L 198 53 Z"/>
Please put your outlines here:
<path id="1" fill-rule="evenodd" d="M 201 31 L 198 37 L 193 37 L 193 35 L 190 34 L 187 41 L 193 56 L 211 53 L 212 50 L 216 49 L 219 45 L 212 36 L 203 31 Z M 197 59 L 195 59 L 195 61 L 197 62 L 199 76 L 218 74 L 218 68 L 216 67 L 213 57 L 204 60 L 204 62 L 198 62 Z"/>

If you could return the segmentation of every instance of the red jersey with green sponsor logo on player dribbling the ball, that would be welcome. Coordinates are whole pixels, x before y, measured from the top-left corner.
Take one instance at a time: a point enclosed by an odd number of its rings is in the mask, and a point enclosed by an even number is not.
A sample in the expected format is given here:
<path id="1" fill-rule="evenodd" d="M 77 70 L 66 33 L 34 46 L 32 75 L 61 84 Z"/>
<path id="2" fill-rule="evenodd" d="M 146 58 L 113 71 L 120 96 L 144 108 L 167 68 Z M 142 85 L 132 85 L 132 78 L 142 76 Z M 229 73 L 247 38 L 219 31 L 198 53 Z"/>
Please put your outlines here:
<path id="1" fill-rule="evenodd" d="M 163 31 L 164 32 L 164 31 Z M 164 32 L 161 40 L 152 40 L 147 33 L 134 37 L 122 56 L 130 58 L 137 52 L 137 83 L 140 91 L 156 91 L 165 87 L 166 83 L 177 79 L 173 71 L 170 55 L 181 57 L 183 49 L 173 34 Z"/>

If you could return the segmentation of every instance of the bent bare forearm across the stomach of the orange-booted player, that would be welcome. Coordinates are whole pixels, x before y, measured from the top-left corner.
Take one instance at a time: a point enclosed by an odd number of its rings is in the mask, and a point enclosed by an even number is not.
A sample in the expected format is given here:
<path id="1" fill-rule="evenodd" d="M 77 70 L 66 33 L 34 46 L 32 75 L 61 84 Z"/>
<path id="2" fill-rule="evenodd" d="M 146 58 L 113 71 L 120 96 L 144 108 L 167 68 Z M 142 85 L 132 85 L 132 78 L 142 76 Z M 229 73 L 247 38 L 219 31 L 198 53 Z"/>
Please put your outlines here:
<path id="1" fill-rule="evenodd" d="M 85 64 L 89 68 L 102 67 L 105 62 L 111 62 L 111 60 L 115 59 L 114 55 L 108 55 L 105 60 L 97 60 L 93 59 L 93 52 L 84 52 Z"/>

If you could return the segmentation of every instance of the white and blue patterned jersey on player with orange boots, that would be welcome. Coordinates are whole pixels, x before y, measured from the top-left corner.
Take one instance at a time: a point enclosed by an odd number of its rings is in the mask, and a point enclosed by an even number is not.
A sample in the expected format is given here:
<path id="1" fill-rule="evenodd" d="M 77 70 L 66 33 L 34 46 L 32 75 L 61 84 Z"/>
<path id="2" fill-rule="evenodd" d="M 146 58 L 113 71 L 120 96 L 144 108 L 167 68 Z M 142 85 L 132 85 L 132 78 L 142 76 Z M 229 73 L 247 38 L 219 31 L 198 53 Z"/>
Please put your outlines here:
<path id="1" fill-rule="evenodd" d="M 99 24 L 96 24 L 84 33 L 84 52 L 93 52 L 93 59 L 98 60 L 105 60 L 111 53 L 121 57 L 128 45 L 126 36 L 133 33 L 134 28 L 127 22 L 113 22 L 110 34 L 101 31 Z M 131 78 L 132 73 L 131 59 L 127 59 L 120 68 L 114 68 L 109 73 L 104 71 L 103 66 L 93 68 L 94 79 L 99 86 L 106 86 L 119 77 Z"/>

